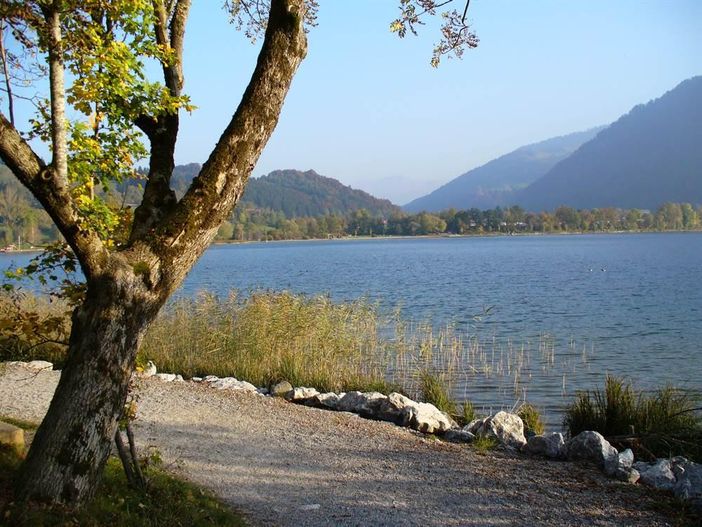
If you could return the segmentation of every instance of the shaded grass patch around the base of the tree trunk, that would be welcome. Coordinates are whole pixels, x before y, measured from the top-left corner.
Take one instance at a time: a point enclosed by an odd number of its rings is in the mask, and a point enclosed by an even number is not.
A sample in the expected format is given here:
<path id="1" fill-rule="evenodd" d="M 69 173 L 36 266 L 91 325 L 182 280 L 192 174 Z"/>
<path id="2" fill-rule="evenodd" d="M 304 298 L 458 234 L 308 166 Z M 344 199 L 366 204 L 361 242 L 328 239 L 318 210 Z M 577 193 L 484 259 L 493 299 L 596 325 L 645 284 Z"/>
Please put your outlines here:
<path id="1" fill-rule="evenodd" d="M 21 463 L 21 456 L 0 448 L 0 518 L 3 525 L 245 525 L 240 515 L 217 501 L 211 494 L 174 478 L 158 467 L 149 468 L 149 485 L 145 492 L 131 490 L 127 486 L 122 466 L 115 458 L 108 461 L 96 496 L 78 510 L 38 503 L 16 503 L 13 501 L 12 479 Z"/>

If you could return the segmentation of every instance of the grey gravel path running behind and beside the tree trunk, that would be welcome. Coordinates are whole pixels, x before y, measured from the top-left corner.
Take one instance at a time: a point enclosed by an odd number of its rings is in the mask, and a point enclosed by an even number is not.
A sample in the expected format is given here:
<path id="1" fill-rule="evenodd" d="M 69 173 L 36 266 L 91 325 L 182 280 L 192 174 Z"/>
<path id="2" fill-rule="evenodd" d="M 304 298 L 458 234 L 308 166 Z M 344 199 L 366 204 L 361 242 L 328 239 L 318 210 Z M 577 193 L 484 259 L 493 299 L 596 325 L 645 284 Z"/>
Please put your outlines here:
<path id="1" fill-rule="evenodd" d="M 57 372 L 0 365 L 0 415 L 39 420 Z M 194 383 L 142 381 L 137 434 L 253 525 L 670 525 L 660 495 L 588 465 L 443 443 Z"/>

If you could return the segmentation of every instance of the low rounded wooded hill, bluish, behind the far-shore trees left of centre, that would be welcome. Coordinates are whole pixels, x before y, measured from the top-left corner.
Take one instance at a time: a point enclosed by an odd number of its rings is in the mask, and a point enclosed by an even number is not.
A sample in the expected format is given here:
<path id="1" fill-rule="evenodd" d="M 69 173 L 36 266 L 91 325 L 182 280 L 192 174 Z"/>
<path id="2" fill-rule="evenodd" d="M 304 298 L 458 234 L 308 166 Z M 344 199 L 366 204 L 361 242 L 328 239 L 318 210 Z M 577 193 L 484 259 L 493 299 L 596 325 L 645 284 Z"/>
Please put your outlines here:
<path id="1" fill-rule="evenodd" d="M 171 186 L 178 197 L 185 193 L 199 171 L 200 165 L 196 163 L 175 168 Z M 314 170 L 276 170 L 267 176 L 250 178 L 240 203 L 281 211 L 288 218 L 347 214 L 358 209 L 366 209 L 372 216 L 390 216 L 400 210 L 386 199 L 347 187 Z"/>

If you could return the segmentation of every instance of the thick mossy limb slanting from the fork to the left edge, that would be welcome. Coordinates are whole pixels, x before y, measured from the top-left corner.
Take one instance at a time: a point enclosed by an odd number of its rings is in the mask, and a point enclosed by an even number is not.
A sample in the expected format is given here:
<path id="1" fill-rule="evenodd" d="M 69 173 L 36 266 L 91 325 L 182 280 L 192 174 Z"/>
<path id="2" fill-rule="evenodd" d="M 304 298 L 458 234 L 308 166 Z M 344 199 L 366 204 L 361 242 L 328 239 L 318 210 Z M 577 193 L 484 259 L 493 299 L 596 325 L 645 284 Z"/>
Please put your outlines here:
<path id="1" fill-rule="evenodd" d="M 0 114 L 0 158 L 51 216 L 78 257 L 86 278 L 96 276 L 108 257 L 102 241 L 93 231 L 80 228 L 69 190 L 61 184 L 53 167 L 44 163 L 3 114 Z"/>

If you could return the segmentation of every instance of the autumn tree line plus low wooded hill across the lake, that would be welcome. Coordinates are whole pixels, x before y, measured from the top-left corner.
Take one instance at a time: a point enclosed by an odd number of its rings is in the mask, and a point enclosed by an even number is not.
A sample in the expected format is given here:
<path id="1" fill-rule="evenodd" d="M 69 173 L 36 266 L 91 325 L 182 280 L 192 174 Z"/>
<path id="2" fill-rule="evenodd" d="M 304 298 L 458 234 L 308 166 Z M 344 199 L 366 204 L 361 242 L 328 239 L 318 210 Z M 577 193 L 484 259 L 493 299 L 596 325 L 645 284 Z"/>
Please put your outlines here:
<path id="1" fill-rule="evenodd" d="M 199 171 L 196 164 L 176 167 L 173 186 L 183 194 Z M 141 200 L 140 180 L 117 185 L 104 200 L 115 207 Z M 284 198 L 284 199 L 283 199 Z M 449 209 L 438 214 L 408 214 L 387 200 L 313 171 L 277 171 L 247 186 L 242 202 L 219 229 L 219 241 L 326 239 L 344 236 L 510 234 L 607 231 L 699 230 L 702 207 L 666 203 L 657 211 L 559 207 L 533 213 L 521 207 L 488 210 Z M 0 246 L 42 245 L 58 238 L 39 204 L 0 165 Z M 28 245 L 23 245 L 27 247 Z"/>

